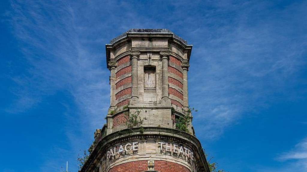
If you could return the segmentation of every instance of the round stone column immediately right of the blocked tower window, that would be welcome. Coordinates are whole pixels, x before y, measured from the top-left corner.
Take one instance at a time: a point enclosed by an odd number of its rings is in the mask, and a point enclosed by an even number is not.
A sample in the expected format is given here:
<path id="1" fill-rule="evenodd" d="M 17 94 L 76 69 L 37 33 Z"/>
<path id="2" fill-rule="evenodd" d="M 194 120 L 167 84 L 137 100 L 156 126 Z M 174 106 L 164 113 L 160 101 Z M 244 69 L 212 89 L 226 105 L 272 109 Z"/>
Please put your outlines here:
<path id="1" fill-rule="evenodd" d="M 163 105 L 171 105 L 169 99 L 169 73 L 168 73 L 168 66 L 169 66 L 169 51 L 161 51 L 160 56 L 162 58 L 162 98 L 161 104 Z"/>

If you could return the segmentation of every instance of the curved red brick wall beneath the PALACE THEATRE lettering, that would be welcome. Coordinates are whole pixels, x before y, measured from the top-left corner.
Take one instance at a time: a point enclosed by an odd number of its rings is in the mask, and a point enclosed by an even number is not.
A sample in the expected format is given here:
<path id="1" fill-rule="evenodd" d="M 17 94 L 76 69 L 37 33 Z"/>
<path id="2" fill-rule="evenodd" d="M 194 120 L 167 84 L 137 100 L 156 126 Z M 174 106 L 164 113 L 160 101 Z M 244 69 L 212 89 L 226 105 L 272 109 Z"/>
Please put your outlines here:
<path id="1" fill-rule="evenodd" d="M 143 172 L 148 170 L 147 161 L 135 161 L 113 167 L 109 172 Z M 185 166 L 167 161 L 154 161 L 154 170 L 159 172 L 191 172 Z"/>

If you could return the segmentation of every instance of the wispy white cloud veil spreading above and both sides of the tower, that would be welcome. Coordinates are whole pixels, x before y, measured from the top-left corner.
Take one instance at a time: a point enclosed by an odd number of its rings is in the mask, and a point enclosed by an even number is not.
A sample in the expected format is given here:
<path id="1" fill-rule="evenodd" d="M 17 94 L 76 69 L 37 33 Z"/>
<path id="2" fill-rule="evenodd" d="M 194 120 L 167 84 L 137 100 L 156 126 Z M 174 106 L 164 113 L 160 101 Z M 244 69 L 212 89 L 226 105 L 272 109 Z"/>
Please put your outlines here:
<path id="1" fill-rule="evenodd" d="M 307 83 L 296 78 L 306 66 L 307 36 L 302 30 L 307 28 L 301 24 L 307 20 L 305 2 L 274 13 L 274 4 L 259 1 L 179 1 L 163 6 L 11 1 L 11 6 L 7 22 L 27 66 L 21 75 L 10 76 L 17 84 L 11 88 L 16 100 L 6 110 L 24 112 L 49 95 L 69 92 L 79 108 L 74 114 L 63 103 L 70 121 L 66 135 L 75 152 L 89 142 L 84 137 L 102 126 L 109 107 L 104 44 L 130 28 L 169 28 L 194 45 L 189 101 L 199 110 L 193 121 L 196 134 L 206 133 L 200 138 L 219 138 L 243 116 L 270 106 L 276 94 L 284 93 L 292 101 L 300 94 L 287 90 Z"/>

